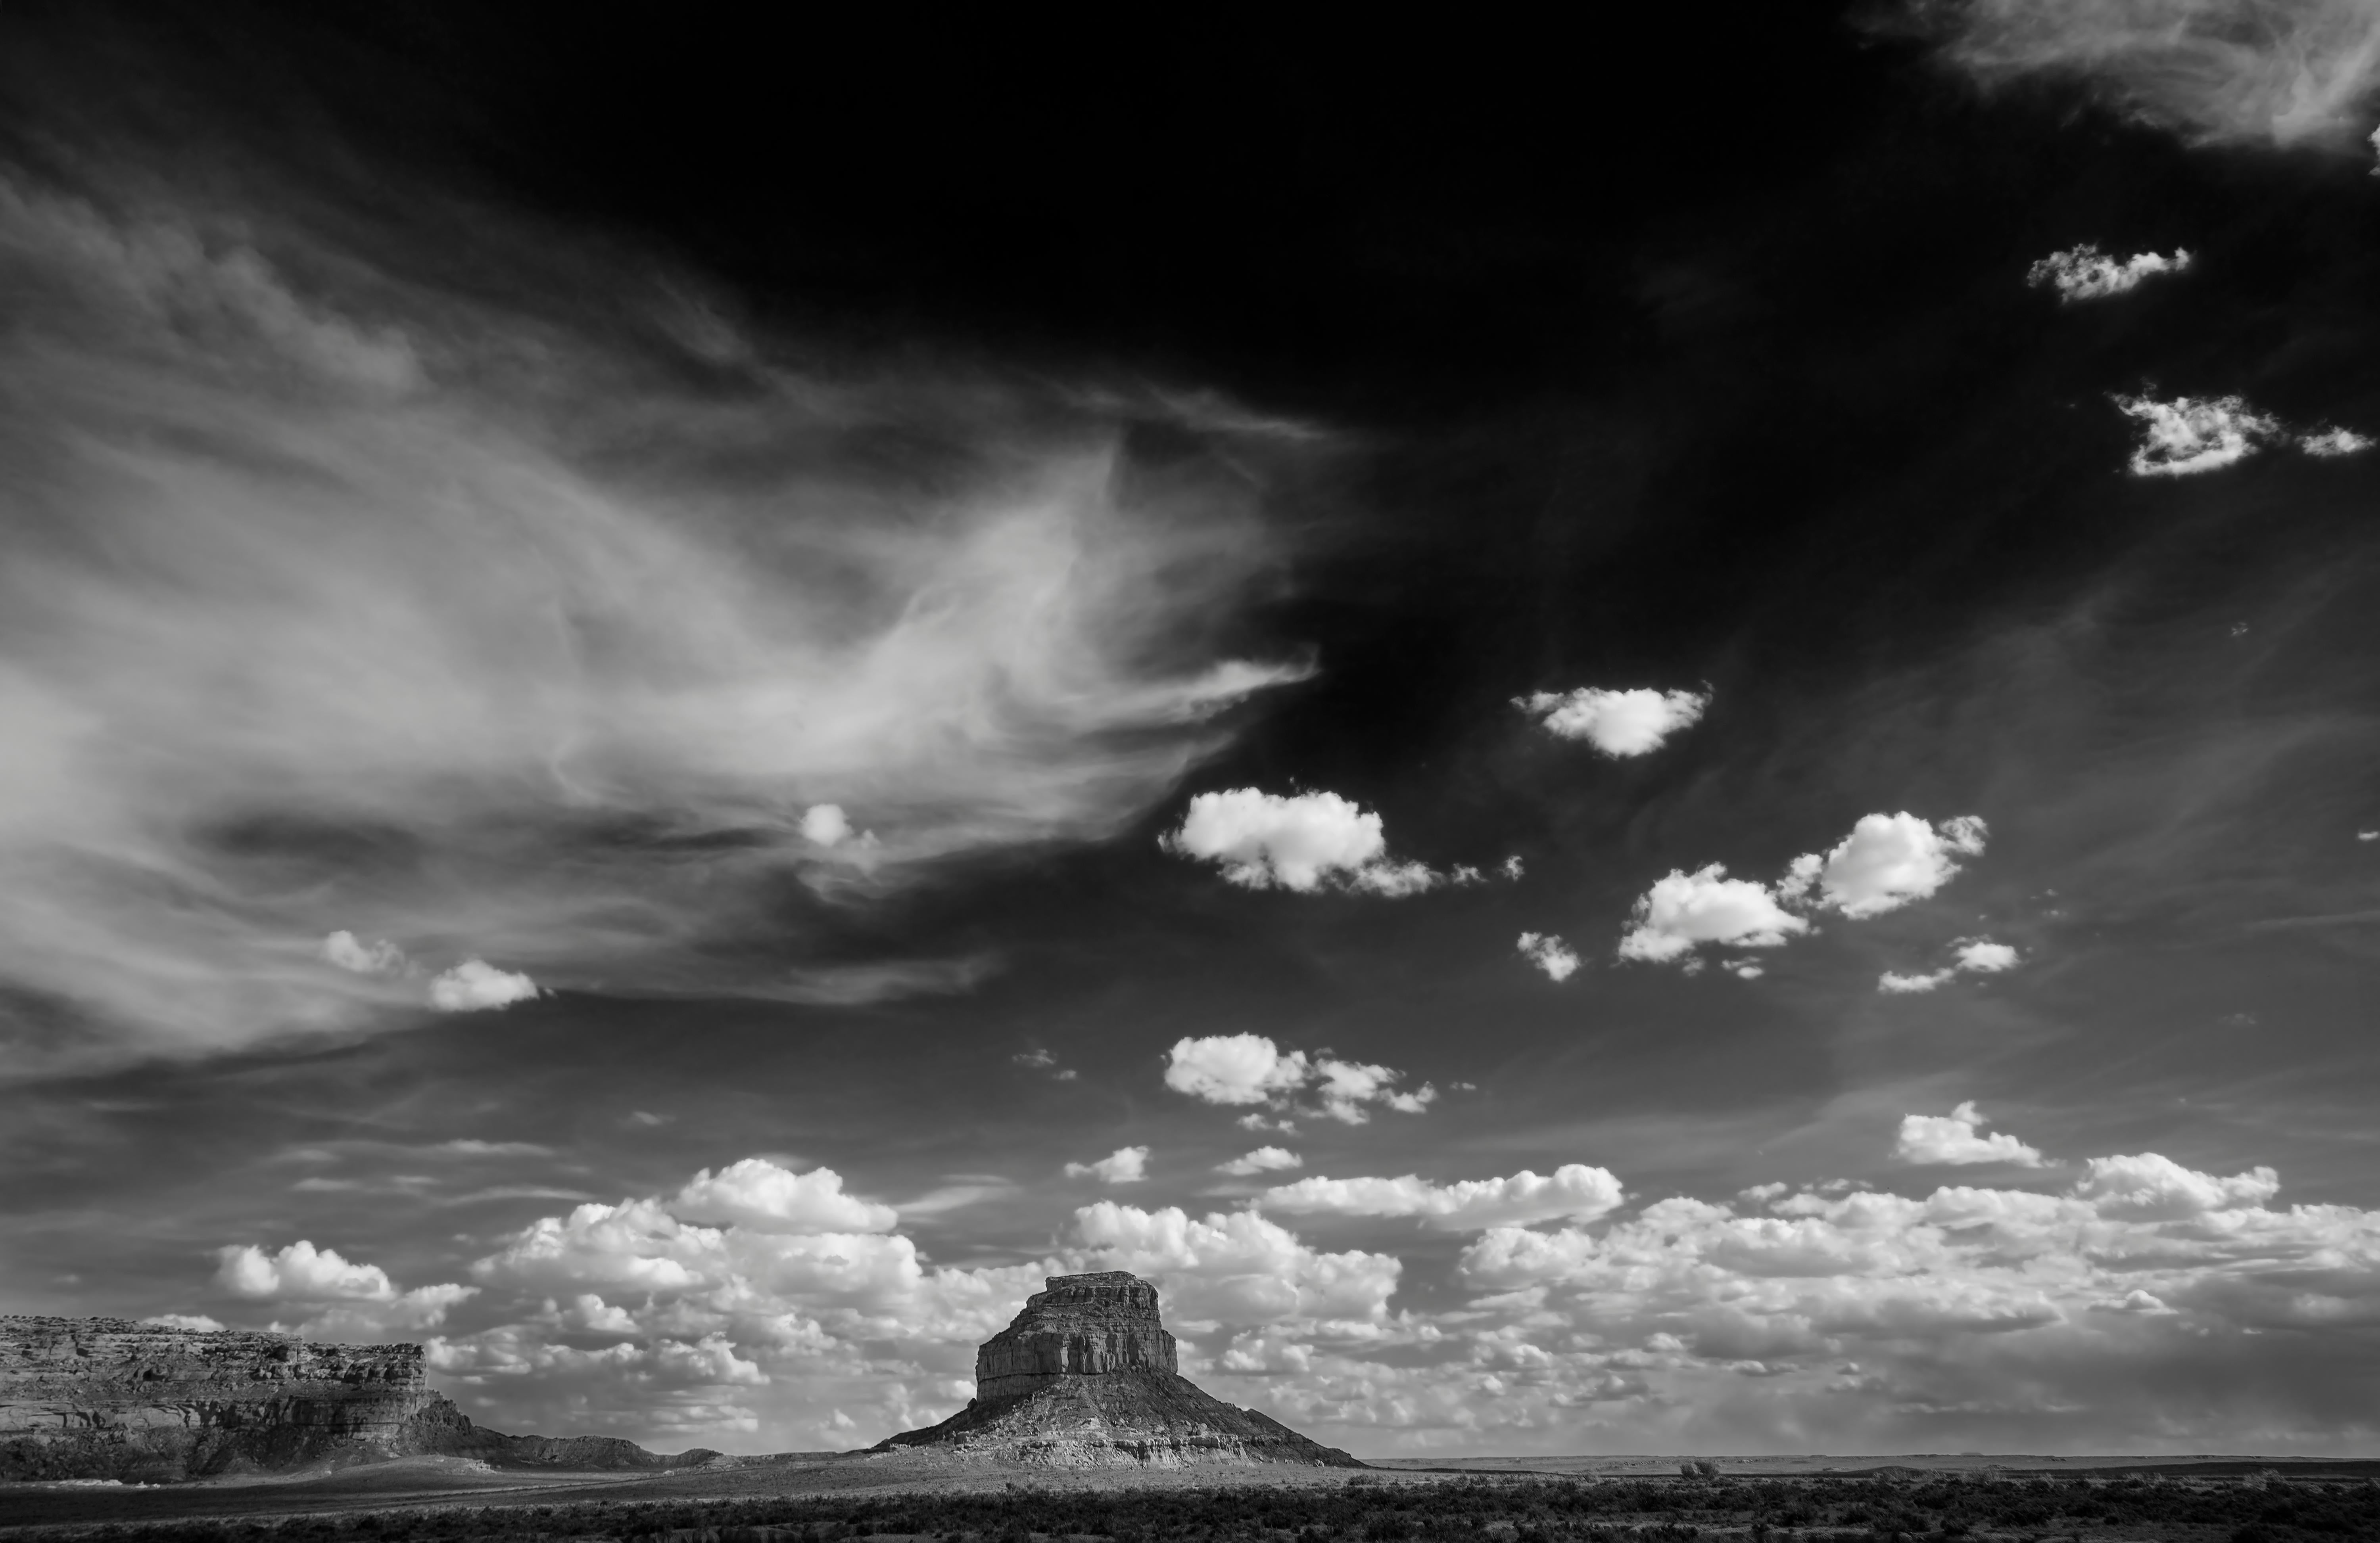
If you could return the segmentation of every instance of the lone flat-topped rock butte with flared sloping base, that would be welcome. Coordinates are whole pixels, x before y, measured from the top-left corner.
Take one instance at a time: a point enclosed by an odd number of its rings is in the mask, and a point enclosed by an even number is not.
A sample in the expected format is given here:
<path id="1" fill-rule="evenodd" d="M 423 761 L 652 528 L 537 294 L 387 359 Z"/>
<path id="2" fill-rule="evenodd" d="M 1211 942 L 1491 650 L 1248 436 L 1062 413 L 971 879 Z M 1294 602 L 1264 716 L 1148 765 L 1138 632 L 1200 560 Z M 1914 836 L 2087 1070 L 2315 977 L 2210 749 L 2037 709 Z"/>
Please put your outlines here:
<path id="1" fill-rule="evenodd" d="M 976 1350 L 973 1403 L 876 1450 L 897 1448 L 1042 1467 L 1364 1467 L 1183 1376 L 1157 1288 L 1121 1269 L 1050 1276 Z"/>

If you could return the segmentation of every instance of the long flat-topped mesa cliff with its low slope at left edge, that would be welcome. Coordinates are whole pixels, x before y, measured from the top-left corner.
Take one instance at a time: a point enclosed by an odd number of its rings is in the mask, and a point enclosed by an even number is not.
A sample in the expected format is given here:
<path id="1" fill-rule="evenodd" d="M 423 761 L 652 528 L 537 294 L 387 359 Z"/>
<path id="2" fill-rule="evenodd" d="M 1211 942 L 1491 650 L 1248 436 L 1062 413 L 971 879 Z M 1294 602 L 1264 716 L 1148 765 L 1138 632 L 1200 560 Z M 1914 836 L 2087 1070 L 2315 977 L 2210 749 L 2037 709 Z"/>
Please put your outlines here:
<path id="1" fill-rule="evenodd" d="M 707 1450 L 659 1457 L 612 1436 L 481 1429 L 428 1386 L 421 1345 L 0 1317 L 0 1481 L 164 1483 L 416 1453 L 566 1469 L 721 1460 Z"/>

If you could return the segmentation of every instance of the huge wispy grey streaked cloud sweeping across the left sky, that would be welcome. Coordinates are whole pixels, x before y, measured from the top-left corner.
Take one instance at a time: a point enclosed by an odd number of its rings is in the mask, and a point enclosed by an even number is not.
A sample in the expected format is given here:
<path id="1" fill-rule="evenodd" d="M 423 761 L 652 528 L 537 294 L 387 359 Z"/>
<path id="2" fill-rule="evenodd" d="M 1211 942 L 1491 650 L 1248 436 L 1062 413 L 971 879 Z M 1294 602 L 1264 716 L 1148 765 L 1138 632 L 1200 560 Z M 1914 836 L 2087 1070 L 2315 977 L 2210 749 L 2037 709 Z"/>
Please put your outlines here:
<path id="1" fill-rule="evenodd" d="M 1107 838 L 1309 674 L 1216 648 L 1304 441 L 1140 391 L 809 379 L 719 317 L 690 386 L 650 262 L 574 248 L 559 281 L 569 243 L 431 190 L 390 229 L 269 169 L 90 179 L 0 183 L 19 1069 L 412 1022 L 374 938 L 562 988 L 964 988 L 981 962 L 804 967 L 762 898 Z M 416 238 L 455 221 L 462 288 Z M 1135 460 L 1152 419 L 1192 452 Z M 828 814 L 862 795 L 873 843 Z M 324 969 L 333 929 L 371 969 Z"/>

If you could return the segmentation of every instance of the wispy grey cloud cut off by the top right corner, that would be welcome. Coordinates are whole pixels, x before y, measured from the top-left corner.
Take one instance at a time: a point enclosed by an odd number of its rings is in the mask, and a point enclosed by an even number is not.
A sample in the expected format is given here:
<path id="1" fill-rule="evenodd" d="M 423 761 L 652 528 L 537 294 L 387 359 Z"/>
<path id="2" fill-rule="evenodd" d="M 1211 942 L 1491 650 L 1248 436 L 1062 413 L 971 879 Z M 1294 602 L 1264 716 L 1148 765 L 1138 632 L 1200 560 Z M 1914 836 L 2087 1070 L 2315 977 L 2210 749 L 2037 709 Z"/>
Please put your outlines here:
<path id="1" fill-rule="evenodd" d="M 2190 143 L 2356 145 L 2380 93 L 2361 0 L 1918 0 L 1985 83 L 2063 76 Z"/>

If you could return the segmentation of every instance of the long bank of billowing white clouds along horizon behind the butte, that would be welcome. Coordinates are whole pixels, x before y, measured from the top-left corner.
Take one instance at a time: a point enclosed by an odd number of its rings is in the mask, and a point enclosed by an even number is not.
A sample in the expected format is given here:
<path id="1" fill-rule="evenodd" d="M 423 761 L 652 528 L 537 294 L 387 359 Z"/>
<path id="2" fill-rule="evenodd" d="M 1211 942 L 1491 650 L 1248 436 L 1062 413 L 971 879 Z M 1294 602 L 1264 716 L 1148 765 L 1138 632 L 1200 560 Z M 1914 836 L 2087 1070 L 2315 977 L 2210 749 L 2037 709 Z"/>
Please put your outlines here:
<path id="1" fill-rule="evenodd" d="M 402 1288 L 302 1238 L 226 1245 L 214 1298 L 190 1303 L 209 1314 L 178 1317 L 428 1333 L 440 1383 L 490 1419 L 747 1450 L 931 1424 L 971 1395 L 976 1343 L 1045 1274 L 1081 1269 L 1152 1279 L 1190 1376 L 1373 1453 L 1557 1426 L 1595 1450 L 1640 1450 L 1647 1431 L 1835 1450 L 1911 1405 L 1968 1445 L 2018 1426 L 2042 1450 L 2340 1438 L 2332 1400 L 2366 1374 L 2354 1324 L 2380 1303 L 2380 1214 L 2278 1207 L 2271 1167 L 2056 1164 L 1983 1124 L 1973 1102 L 1909 1114 L 1892 1157 L 2013 1183 L 1764 1183 L 1709 1202 L 1626 1195 L 1587 1164 L 1299 1179 L 1207 1214 L 1078 1205 L 1047 1257 L 971 1267 L 933 1264 L 833 1169 L 747 1157 L 676 1195 L 540 1217 L 466 1281 Z M 1233 1172 L 1280 1167 L 1295 1157 L 1261 1148 Z M 1321 1248 L 1269 1212 L 1371 1231 Z M 1438 1305 L 1399 1295 L 1416 1224 L 1464 1238 Z"/>

